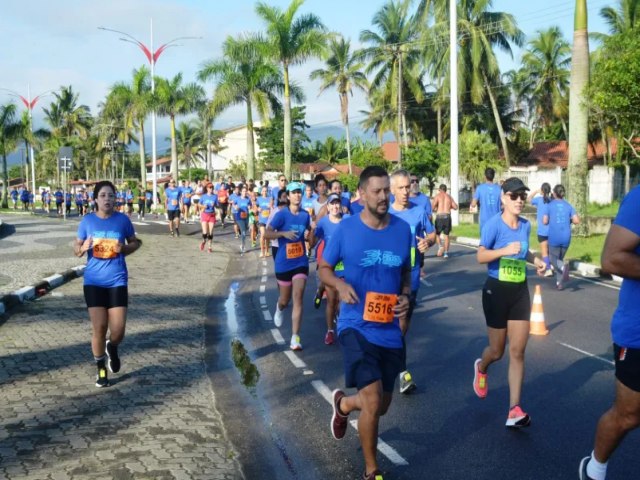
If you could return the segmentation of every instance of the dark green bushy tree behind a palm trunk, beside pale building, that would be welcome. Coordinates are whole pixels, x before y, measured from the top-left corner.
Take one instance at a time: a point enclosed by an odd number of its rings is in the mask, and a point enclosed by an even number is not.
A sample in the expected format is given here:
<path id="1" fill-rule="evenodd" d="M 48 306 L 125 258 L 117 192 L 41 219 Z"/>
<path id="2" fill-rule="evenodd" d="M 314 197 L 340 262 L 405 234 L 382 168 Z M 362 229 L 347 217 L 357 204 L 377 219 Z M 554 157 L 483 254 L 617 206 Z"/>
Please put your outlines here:
<path id="1" fill-rule="evenodd" d="M 292 145 L 291 156 L 296 162 L 304 161 L 304 144 L 308 143 L 309 137 L 305 130 L 309 128 L 305 121 L 305 107 L 293 107 L 291 109 L 292 124 Z M 278 112 L 273 117 L 269 125 L 256 128 L 258 133 L 258 145 L 262 151 L 260 159 L 264 162 L 266 169 L 281 171 L 284 166 L 284 115 Z"/>

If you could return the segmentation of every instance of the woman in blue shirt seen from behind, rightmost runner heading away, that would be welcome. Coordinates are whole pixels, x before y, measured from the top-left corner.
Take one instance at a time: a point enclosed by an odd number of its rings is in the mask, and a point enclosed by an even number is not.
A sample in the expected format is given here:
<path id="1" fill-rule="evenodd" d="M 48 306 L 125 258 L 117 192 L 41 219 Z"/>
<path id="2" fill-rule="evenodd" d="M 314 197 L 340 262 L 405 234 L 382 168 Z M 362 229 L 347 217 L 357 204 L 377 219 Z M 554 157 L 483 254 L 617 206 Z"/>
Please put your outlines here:
<path id="1" fill-rule="evenodd" d="M 573 206 L 564 199 L 562 185 L 553 187 L 554 200 L 547 205 L 542 222 L 549 227 L 549 257 L 556 271 L 556 288 L 563 290 L 569 280 L 569 263 L 564 256 L 571 244 L 571 224 L 580 223 L 580 217 Z"/>

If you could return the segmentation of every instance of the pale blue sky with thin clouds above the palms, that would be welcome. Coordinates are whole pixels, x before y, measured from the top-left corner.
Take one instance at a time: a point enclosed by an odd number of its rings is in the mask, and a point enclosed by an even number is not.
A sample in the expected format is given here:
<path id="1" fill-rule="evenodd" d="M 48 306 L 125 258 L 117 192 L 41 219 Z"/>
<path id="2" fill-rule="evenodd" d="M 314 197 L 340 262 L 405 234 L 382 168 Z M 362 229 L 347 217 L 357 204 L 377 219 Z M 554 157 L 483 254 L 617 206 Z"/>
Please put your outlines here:
<path id="1" fill-rule="evenodd" d="M 267 0 L 269 5 L 286 8 L 289 0 Z M 362 30 L 371 28 L 371 19 L 384 4 L 383 0 L 306 0 L 300 12 L 315 13 L 332 31 L 341 33 L 359 46 Z M 589 30 L 606 32 L 598 12 L 617 0 L 588 0 Z M 179 41 L 168 48 L 156 63 L 156 75 L 173 77 L 182 72 L 185 82 L 196 80 L 203 62 L 220 56 L 224 39 L 239 33 L 255 32 L 263 24 L 255 14 L 253 0 L 1 0 L 0 2 L 0 88 L 32 98 L 72 85 L 80 94 L 80 103 L 88 105 L 93 114 L 116 82 L 129 81 L 133 69 L 146 63 L 137 46 L 120 41 L 116 33 L 98 27 L 124 31 L 149 45 L 151 21 L 153 44 L 157 48 L 177 37 L 198 37 Z M 493 11 L 515 16 L 527 37 L 557 25 L 571 41 L 575 0 L 494 0 Z M 521 52 L 514 60 L 500 55 L 502 71 L 518 65 Z M 318 82 L 309 80 L 309 73 L 321 67 L 319 61 L 293 68 L 291 77 L 306 93 L 307 123 L 313 126 L 340 126 L 337 94 L 325 92 L 318 96 Z M 213 85 L 205 84 L 211 95 Z M 0 91 L 0 94 L 3 92 Z M 0 95 L 0 103 L 11 101 Z M 51 102 L 44 96 L 34 108 L 34 126 L 42 122 L 42 107 Z M 19 104 L 22 108 L 22 104 Z M 362 116 L 366 109 L 362 94 L 355 94 L 351 118 Z M 225 112 L 214 125 L 228 128 L 241 125 L 244 107 Z M 149 127 L 147 127 L 149 129 Z M 147 130 L 149 131 L 149 130 Z M 166 136 L 168 121 L 158 120 L 158 135 Z"/>

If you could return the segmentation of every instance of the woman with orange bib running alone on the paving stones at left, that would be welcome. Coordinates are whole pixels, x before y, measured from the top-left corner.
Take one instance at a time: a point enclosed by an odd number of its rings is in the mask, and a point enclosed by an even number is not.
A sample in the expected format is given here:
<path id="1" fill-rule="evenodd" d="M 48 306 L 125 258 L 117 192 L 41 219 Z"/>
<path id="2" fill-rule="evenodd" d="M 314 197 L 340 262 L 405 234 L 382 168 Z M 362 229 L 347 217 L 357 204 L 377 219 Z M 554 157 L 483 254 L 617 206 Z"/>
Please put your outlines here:
<path id="1" fill-rule="evenodd" d="M 131 220 L 114 210 L 115 190 L 111 182 L 96 184 L 96 212 L 80 221 L 73 247 L 76 256 L 88 256 L 84 298 L 93 327 L 91 350 L 98 370 L 97 387 L 109 386 L 107 366 L 112 373 L 120 371 L 118 345 L 124 339 L 129 303 L 124 257 L 141 245 Z"/>

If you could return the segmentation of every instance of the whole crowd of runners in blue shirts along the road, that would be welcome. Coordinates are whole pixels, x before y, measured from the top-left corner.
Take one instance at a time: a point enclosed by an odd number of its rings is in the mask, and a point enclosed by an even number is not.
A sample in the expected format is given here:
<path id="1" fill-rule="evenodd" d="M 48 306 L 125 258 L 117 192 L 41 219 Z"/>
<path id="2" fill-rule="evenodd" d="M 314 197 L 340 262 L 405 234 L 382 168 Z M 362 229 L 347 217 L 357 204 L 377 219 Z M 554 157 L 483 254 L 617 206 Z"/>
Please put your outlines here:
<path id="1" fill-rule="evenodd" d="M 571 224 L 580 219 L 564 199 L 562 185 L 551 189 L 543 184 L 531 192 L 518 178 L 495 184 L 491 169 L 487 169 L 486 177 L 472 208 L 480 209 L 477 261 L 487 265 L 481 292 L 487 346 L 474 362 L 470 381 L 473 378 L 477 397 L 486 398 L 489 367 L 502 358 L 508 341 L 509 409 L 505 425 L 521 428 L 531 424 L 531 417 L 521 404 L 531 314 L 527 263 L 533 264 L 540 276 L 553 276 L 555 272 L 556 286 L 562 289 L 567 281 L 564 255 L 571 241 Z M 128 212 L 127 192 L 119 197 L 113 185 L 102 182 L 95 193 L 100 196 L 96 215 L 81 222 L 74 251 L 78 256 L 89 252 L 85 298 L 94 326 L 96 385 L 104 387 L 109 384 L 107 368 L 111 372 L 120 368 L 118 345 L 124 337 L 128 301 L 122 259 L 140 242 L 130 220 L 118 212 L 118 198 L 124 199 L 125 213 Z M 521 216 L 527 200 L 538 212 L 539 256 L 530 248 L 531 224 Z M 146 198 L 140 199 L 143 201 Z M 201 251 L 213 252 L 214 227 L 219 224 L 219 229 L 224 229 L 229 224 L 241 255 L 250 242 L 260 257 L 273 258 L 278 286 L 274 324 L 281 328 L 290 318 L 289 347 L 294 351 L 303 349 L 303 299 L 309 275 L 316 275 L 318 288 L 313 292 L 313 305 L 321 308 L 324 299 L 324 343 L 340 345 L 345 385 L 356 389 L 352 395 L 341 389 L 333 392 L 331 432 L 334 438 L 343 438 L 349 415 L 360 412 L 363 478 L 381 480 L 376 459 L 380 417 L 391 404 L 396 380 L 402 394 L 416 388 L 406 368 L 405 336 L 417 307 L 425 254 L 435 246 L 436 256 L 442 261 L 449 257 L 451 211 L 458 205 L 447 193 L 447 187 L 441 185 L 430 198 L 420 192 L 416 175 L 406 170 L 388 174 L 381 167 L 368 167 L 362 172 L 353 197 L 339 180 L 329 181 L 322 175 L 308 183 L 289 183 L 280 176 L 273 187 L 268 182 L 256 184 L 244 179 L 234 183 L 231 177 L 193 185 L 186 181 L 178 185 L 171 180 L 164 190 L 164 207 L 169 232 L 174 237 L 180 236 L 181 221 L 199 219 L 202 238 L 197 248 Z M 637 264 L 638 215 L 626 211 L 630 208 L 637 214 L 637 202 L 631 206 L 623 203 L 621 212 L 625 213 L 620 225 L 628 224 L 623 230 L 627 232 L 628 228 L 635 233 L 632 238 L 624 238 L 626 243 L 614 247 L 631 252 Z M 105 222 L 113 231 L 104 230 Z M 104 262 L 109 262 L 115 273 L 105 276 L 109 269 L 104 269 Z M 638 293 L 637 284 L 629 289 Z M 629 314 L 629 307 L 625 308 L 617 313 L 618 323 L 623 326 L 618 328 L 618 338 L 614 338 L 619 357 L 618 398 L 598 426 L 594 454 L 581 465 L 582 479 L 604 479 L 606 460 L 617 442 L 640 423 L 640 327 L 628 327 L 629 318 L 635 313 Z M 638 307 L 633 309 L 637 312 Z M 627 358 L 632 361 L 623 365 Z M 630 411 L 635 415 L 633 422 L 628 421 Z"/>

